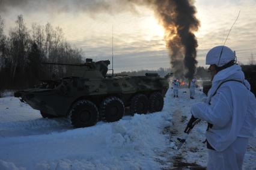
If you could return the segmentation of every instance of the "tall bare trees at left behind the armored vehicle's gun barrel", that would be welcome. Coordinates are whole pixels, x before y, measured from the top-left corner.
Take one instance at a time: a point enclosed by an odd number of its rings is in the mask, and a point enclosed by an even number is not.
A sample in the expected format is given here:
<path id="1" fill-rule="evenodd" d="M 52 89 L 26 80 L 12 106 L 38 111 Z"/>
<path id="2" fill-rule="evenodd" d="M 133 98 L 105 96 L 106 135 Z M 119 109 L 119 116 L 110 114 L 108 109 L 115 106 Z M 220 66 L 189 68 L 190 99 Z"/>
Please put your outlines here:
<path id="1" fill-rule="evenodd" d="M 82 51 L 72 47 L 62 29 L 46 25 L 25 25 L 17 16 L 15 27 L 4 34 L 4 19 L 0 16 L 0 90 L 32 87 L 38 80 L 56 74 L 62 77 L 66 67 L 42 65 L 41 62 L 82 63 Z"/>

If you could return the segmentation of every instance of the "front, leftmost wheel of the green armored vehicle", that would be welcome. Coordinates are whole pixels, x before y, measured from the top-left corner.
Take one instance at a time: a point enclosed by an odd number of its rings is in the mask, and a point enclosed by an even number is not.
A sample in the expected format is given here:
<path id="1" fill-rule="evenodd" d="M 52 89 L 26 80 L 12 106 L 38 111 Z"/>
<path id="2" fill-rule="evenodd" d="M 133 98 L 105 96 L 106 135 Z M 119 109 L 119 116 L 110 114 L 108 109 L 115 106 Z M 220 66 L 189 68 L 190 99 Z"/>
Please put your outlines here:
<path id="1" fill-rule="evenodd" d="M 80 100 L 76 102 L 69 113 L 69 119 L 74 127 L 94 126 L 99 118 L 99 111 L 93 102 Z"/>

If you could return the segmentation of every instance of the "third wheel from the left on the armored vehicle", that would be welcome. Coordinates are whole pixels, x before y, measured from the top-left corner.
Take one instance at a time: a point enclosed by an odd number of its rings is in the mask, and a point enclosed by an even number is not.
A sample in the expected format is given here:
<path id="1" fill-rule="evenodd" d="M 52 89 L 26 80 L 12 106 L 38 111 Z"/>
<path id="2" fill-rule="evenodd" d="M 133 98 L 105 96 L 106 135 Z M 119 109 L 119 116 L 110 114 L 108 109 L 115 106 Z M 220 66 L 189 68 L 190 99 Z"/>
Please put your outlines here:
<path id="1" fill-rule="evenodd" d="M 148 112 L 148 97 L 144 94 L 137 94 L 130 103 L 130 114 L 147 114 Z"/>

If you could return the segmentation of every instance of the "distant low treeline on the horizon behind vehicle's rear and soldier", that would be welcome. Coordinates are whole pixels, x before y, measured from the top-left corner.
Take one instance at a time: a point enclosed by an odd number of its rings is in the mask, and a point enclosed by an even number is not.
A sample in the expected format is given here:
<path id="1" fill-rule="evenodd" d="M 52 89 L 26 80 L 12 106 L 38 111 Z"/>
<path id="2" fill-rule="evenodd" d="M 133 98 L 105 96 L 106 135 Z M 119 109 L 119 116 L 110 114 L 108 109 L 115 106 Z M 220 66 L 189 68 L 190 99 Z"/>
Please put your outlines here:
<path id="1" fill-rule="evenodd" d="M 159 68 L 157 70 L 138 70 L 138 71 L 121 71 L 118 74 L 124 74 L 128 76 L 145 76 L 145 73 L 158 73 L 159 76 L 164 77 L 166 74 L 171 73 L 171 68 Z M 197 67 L 195 74 L 197 79 L 209 79 L 210 74 L 207 72 L 207 68 Z"/>

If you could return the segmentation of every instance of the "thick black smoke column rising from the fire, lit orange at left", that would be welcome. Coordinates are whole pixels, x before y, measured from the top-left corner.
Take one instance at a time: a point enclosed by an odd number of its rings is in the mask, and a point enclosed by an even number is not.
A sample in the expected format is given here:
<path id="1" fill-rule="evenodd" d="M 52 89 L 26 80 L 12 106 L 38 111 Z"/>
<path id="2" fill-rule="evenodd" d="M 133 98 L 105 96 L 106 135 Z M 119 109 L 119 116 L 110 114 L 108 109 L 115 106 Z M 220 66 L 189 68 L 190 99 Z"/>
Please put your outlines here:
<path id="1" fill-rule="evenodd" d="M 144 0 L 153 8 L 159 22 L 165 28 L 166 47 L 169 50 L 172 69 L 177 77 L 192 79 L 197 66 L 197 38 L 194 33 L 200 26 L 193 1 Z"/>

